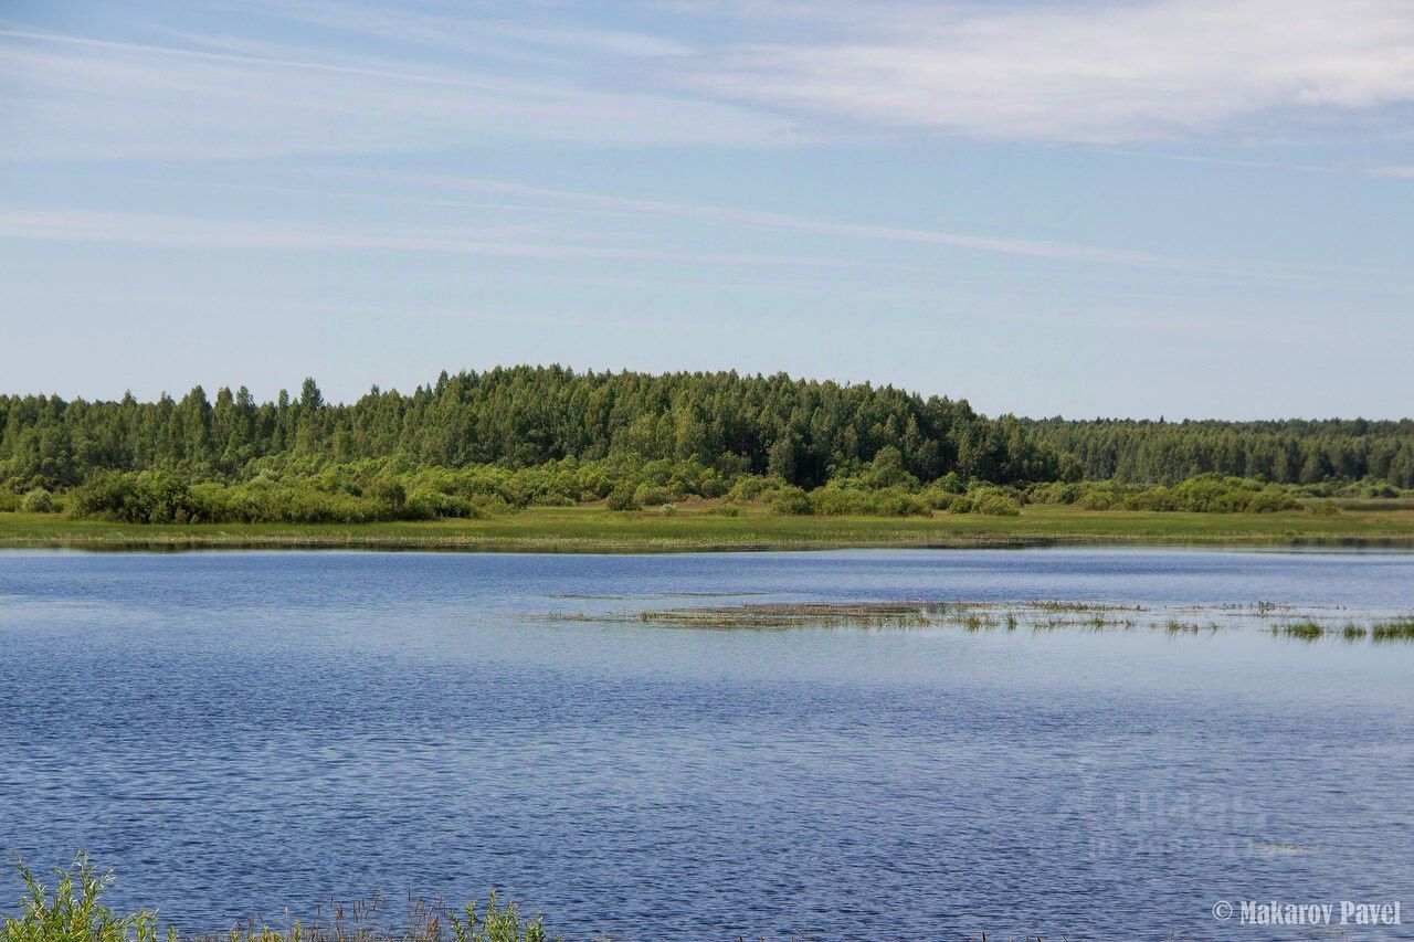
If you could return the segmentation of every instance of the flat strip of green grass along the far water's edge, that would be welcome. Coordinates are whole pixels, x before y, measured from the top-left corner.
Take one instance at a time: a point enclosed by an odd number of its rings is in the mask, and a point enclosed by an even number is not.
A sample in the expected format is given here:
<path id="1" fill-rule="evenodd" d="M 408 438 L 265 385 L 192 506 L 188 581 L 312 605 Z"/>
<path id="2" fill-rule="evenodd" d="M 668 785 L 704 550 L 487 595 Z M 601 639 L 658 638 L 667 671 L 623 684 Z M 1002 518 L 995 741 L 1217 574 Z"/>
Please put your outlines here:
<path id="1" fill-rule="evenodd" d="M 76 549 L 346 547 L 498 552 L 713 552 L 1087 543 L 1414 547 L 1414 509 L 1335 515 L 1168 513 L 1029 505 L 1019 516 L 781 516 L 711 502 L 673 513 L 529 508 L 479 521 L 143 525 L 0 513 L 0 546 Z"/>

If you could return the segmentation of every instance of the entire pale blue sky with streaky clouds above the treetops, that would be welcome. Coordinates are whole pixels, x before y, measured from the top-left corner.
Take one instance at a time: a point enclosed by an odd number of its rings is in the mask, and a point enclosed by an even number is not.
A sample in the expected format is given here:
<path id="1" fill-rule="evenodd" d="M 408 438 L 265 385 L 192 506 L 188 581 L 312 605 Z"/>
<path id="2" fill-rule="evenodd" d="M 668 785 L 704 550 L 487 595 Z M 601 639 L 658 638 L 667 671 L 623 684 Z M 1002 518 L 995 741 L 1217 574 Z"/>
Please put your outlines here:
<path id="1" fill-rule="evenodd" d="M 0 6 L 0 388 L 1407 416 L 1414 1 Z"/>

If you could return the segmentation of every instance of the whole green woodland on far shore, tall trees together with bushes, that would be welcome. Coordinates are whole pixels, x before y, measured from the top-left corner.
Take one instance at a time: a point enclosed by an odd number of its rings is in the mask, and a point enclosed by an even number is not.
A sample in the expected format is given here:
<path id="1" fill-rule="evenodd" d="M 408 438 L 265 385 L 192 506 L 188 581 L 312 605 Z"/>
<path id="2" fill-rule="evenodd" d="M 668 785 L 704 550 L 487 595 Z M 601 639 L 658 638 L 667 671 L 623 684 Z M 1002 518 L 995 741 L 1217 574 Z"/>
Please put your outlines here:
<path id="1" fill-rule="evenodd" d="M 346 405 L 327 403 L 312 379 L 274 402 L 201 386 L 157 402 L 0 396 L 0 430 L 11 502 L 42 509 L 72 495 L 71 512 L 132 519 L 465 516 L 492 504 L 626 508 L 764 491 L 793 512 L 870 512 L 880 492 L 932 487 L 932 498 L 882 499 L 911 512 L 981 485 L 1024 499 L 1042 482 L 1106 481 L 1103 492 L 1133 501 L 1135 485 L 1205 474 L 1258 489 L 1414 487 L 1410 420 L 990 419 L 891 386 L 734 372 L 498 368 Z"/>

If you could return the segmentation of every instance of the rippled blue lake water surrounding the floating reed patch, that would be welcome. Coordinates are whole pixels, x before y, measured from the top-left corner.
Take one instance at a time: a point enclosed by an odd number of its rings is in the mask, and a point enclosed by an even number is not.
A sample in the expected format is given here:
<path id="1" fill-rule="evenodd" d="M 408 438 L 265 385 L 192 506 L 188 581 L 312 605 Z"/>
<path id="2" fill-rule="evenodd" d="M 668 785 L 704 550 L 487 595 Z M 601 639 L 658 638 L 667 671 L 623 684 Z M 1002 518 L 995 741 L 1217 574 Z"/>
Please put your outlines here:
<path id="1" fill-rule="evenodd" d="M 1414 921 L 1414 645 L 550 618 L 887 598 L 1393 612 L 1414 556 L 0 553 L 0 851 L 188 929 L 492 885 L 629 942 Z"/>

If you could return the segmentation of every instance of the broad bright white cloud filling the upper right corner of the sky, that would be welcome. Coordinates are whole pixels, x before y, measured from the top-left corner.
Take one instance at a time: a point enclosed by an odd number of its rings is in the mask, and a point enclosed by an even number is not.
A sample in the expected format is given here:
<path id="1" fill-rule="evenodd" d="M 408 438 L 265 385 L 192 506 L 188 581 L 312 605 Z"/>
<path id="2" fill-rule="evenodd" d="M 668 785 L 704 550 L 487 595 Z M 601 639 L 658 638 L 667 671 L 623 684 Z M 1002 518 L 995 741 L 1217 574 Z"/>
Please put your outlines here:
<path id="1" fill-rule="evenodd" d="M 1329 130 L 1335 115 L 1414 102 L 1410 0 L 831 10 L 810 40 L 747 41 L 672 79 L 796 116 L 1076 143 L 1212 136 L 1251 119 L 1264 127 L 1246 136 Z"/>

